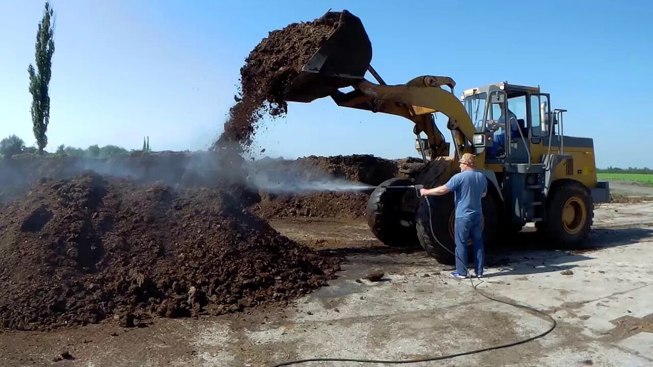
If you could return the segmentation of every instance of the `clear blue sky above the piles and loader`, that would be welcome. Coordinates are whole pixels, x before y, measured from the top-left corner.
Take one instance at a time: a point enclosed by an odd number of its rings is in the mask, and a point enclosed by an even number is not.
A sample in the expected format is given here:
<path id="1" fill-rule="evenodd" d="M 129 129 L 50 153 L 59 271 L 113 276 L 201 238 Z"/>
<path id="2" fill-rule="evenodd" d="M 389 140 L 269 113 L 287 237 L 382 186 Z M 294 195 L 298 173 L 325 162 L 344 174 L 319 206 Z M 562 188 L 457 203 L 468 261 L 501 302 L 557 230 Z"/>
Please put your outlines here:
<path id="1" fill-rule="evenodd" d="M 284 5 L 280 5 L 284 4 Z M 647 1 L 54 1 L 48 151 L 59 144 L 206 149 L 222 131 L 238 72 L 268 31 L 347 8 L 389 84 L 446 75 L 463 89 L 540 85 L 569 110 L 565 135 L 594 138 L 597 165 L 653 167 L 653 3 Z M 0 0 L 0 137 L 31 133 L 27 65 L 42 1 Z M 438 119 L 441 129 L 445 120 Z M 293 103 L 264 121 L 266 155 L 417 156 L 411 122 Z M 449 136 L 448 134 L 446 136 Z"/>

